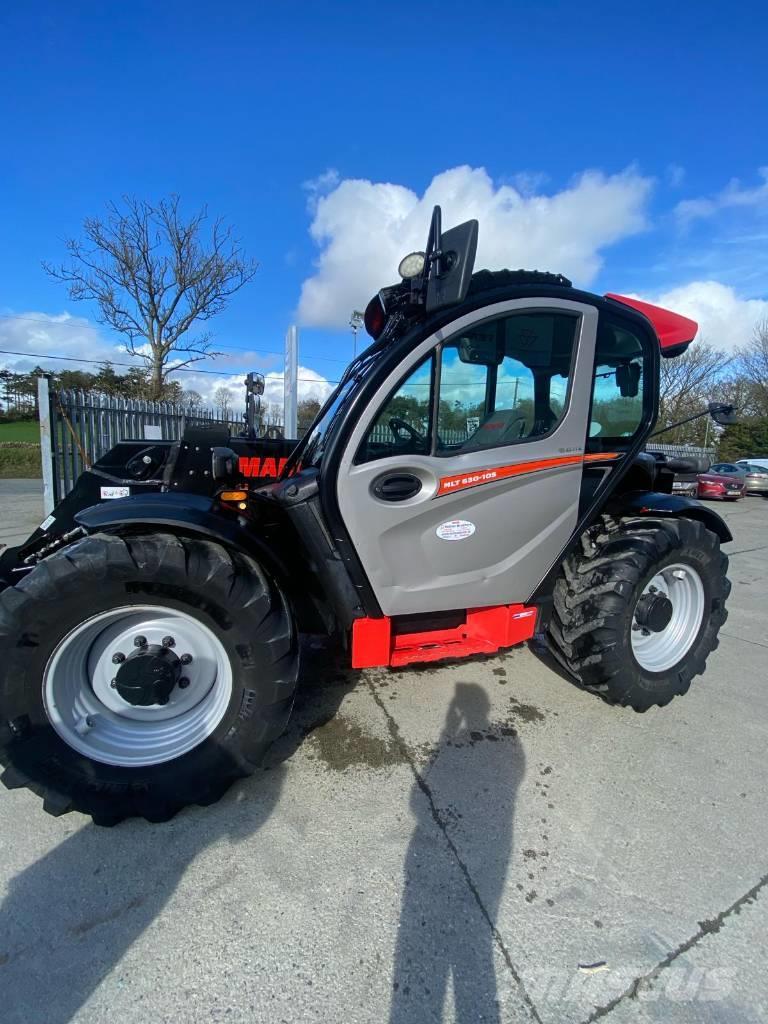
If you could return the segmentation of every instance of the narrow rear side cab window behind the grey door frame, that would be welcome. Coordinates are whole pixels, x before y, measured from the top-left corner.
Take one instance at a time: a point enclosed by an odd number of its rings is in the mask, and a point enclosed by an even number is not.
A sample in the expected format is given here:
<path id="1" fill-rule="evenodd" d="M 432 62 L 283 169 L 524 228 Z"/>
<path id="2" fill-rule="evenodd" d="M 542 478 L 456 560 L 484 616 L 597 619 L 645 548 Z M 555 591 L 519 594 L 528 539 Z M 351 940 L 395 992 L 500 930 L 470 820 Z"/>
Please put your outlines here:
<path id="1" fill-rule="evenodd" d="M 642 422 L 642 344 L 632 331 L 603 322 L 597 333 L 589 436 L 631 437 Z"/>

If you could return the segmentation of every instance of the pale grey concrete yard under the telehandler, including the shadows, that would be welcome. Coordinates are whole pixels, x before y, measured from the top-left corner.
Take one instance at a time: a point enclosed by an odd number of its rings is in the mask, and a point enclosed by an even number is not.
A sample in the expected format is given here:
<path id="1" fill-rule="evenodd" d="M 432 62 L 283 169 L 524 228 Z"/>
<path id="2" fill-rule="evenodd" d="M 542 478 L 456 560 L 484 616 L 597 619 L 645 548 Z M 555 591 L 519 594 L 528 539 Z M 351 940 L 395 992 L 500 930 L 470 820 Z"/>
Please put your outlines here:
<path id="1" fill-rule="evenodd" d="M 4 1024 L 765 1020 L 768 502 L 718 511 L 730 617 L 665 710 L 527 649 L 362 674 L 315 650 L 214 807 L 100 829 L 2 792 Z"/>

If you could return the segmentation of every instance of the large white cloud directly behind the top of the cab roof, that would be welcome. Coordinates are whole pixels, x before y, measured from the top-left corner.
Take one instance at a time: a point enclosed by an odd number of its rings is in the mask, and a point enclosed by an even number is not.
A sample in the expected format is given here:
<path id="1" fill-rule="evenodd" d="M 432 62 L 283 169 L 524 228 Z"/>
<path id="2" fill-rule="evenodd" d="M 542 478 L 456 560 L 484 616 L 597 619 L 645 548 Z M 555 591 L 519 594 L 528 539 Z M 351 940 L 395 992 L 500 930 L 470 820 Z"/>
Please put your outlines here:
<path id="1" fill-rule="evenodd" d="M 436 203 L 446 227 L 479 220 L 478 268 L 549 269 L 587 285 L 604 248 L 645 227 L 651 185 L 633 169 L 586 171 L 545 195 L 496 186 L 483 168 L 467 166 L 436 175 L 421 197 L 398 184 L 340 181 L 330 194 L 312 196 L 309 233 L 321 252 L 302 286 L 299 318 L 312 327 L 344 326 L 352 309 L 365 308 L 377 289 L 396 280 L 406 253 L 424 247 Z"/>

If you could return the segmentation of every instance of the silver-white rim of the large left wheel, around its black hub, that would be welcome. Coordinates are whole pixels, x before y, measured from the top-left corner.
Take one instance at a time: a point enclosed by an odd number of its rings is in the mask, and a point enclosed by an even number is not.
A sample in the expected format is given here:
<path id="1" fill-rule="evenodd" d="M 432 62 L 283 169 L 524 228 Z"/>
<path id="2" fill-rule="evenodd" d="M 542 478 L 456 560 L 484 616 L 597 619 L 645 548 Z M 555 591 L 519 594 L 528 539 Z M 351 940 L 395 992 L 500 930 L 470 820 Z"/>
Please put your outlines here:
<path id="1" fill-rule="evenodd" d="M 112 686 L 134 639 L 190 654 L 188 684 L 175 686 L 165 706 L 136 707 Z M 232 693 L 229 658 L 200 620 L 161 605 L 126 605 L 81 623 L 59 641 L 43 675 L 43 702 L 51 725 L 70 746 L 102 764 L 142 767 L 181 757 L 203 742 L 224 716 Z"/>

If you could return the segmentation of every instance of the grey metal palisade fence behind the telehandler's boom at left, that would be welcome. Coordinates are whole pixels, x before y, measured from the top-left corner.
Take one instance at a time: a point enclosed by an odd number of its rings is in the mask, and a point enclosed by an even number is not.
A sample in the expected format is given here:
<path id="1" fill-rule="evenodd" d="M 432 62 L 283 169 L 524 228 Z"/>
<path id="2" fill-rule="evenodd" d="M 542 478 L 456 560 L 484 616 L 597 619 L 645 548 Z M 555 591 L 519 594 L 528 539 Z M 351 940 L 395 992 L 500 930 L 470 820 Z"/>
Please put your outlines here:
<path id="1" fill-rule="evenodd" d="M 84 469 L 121 440 L 178 440 L 188 426 L 243 429 L 237 413 L 170 401 L 119 398 L 85 391 L 51 391 L 38 380 L 43 504 L 46 515 L 74 487 Z M 271 424 L 264 423 L 266 432 Z"/>

